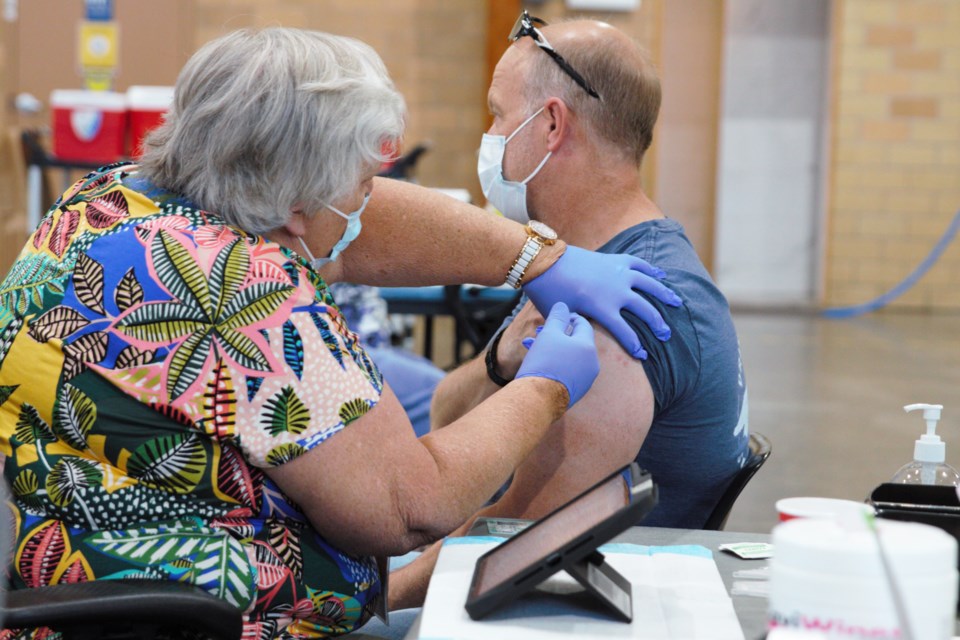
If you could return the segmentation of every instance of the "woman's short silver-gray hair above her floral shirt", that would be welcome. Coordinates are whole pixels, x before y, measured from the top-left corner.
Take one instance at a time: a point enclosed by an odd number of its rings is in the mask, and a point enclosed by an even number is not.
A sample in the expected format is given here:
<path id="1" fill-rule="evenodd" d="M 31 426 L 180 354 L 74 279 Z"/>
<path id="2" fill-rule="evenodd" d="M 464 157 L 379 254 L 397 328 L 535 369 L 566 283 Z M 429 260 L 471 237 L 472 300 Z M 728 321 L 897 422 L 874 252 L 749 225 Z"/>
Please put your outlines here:
<path id="1" fill-rule="evenodd" d="M 140 161 L 158 186 L 250 233 L 353 193 L 403 133 L 405 106 L 368 45 L 272 27 L 204 45 Z"/>

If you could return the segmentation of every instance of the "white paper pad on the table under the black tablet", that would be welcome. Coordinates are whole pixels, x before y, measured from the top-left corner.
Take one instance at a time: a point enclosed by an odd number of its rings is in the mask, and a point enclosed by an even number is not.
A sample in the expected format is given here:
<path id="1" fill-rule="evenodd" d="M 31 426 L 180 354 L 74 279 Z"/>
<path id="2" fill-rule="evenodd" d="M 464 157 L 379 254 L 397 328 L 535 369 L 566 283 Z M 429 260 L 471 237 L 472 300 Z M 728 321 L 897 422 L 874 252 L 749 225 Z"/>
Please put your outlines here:
<path id="1" fill-rule="evenodd" d="M 710 550 L 701 546 L 600 548 L 607 562 L 633 585 L 633 622 L 606 615 L 585 593 L 528 593 L 482 620 L 464 605 L 477 558 L 497 542 L 451 538 L 434 569 L 420 619 L 420 640 L 554 640 L 641 638 L 644 640 L 743 640 L 733 601 Z M 551 578 L 562 588 L 565 572 Z"/>

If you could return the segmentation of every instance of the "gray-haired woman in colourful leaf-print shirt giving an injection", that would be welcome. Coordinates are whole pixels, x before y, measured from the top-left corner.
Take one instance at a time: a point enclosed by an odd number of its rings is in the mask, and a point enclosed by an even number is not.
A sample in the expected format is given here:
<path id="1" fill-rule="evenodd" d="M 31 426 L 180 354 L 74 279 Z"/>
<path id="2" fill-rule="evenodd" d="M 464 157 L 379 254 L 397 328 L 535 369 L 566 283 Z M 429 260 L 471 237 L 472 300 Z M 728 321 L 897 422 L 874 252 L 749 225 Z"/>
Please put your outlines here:
<path id="1" fill-rule="evenodd" d="M 242 609 L 244 637 L 347 633 L 384 595 L 376 558 L 460 525 L 592 384 L 575 312 L 639 353 L 620 312 L 662 323 L 633 291 L 670 298 L 655 269 L 375 180 L 403 125 L 368 46 L 240 31 L 187 63 L 139 166 L 47 212 L 0 284 L 12 588 L 175 580 Z M 543 331 L 415 438 L 327 283 L 505 275 Z"/>

